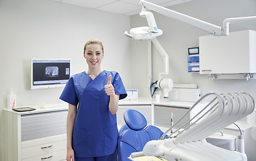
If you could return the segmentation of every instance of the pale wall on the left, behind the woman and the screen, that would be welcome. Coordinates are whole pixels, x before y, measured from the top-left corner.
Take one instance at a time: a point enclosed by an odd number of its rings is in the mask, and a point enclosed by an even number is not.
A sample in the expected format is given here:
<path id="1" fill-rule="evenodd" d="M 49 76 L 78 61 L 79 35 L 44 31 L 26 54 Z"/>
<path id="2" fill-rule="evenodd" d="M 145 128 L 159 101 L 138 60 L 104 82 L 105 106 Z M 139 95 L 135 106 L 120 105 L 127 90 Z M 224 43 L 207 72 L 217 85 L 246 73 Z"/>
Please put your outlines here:
<path id="1" fill-rule="evenodd" d="M 32 58 L 71 58 L 71 74 L 87 70 L 83 46 L 91 38 L 104 45 L 102 67 L 120 72 L 130 88 L 130 17 L 52 0 L 0 1 L 0 123 L 6 95 L 13 88 L 17 106 L 61 103 L 62 89 L 30 89 Z M 1 124 L 0 127 L 3 127 Z M 3 137 L 0 128 L 0 142 Z M 3 144 L 0 144 L 2 160 Z"/>

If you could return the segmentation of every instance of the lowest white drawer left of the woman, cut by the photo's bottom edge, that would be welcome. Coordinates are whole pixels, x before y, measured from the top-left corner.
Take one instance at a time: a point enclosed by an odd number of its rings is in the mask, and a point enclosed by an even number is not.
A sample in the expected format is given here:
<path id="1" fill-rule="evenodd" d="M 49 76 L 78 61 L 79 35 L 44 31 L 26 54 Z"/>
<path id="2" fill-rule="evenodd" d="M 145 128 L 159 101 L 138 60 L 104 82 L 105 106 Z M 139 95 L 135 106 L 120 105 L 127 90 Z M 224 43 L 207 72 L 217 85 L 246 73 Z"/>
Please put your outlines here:
<path id="1" fill-rule="evenodd" d="M 62 161 L 66 160 L 66 150 L 50 152 L 48 154 L 22 159 L 22 161 L 60 161 L 60 160 Z"/>

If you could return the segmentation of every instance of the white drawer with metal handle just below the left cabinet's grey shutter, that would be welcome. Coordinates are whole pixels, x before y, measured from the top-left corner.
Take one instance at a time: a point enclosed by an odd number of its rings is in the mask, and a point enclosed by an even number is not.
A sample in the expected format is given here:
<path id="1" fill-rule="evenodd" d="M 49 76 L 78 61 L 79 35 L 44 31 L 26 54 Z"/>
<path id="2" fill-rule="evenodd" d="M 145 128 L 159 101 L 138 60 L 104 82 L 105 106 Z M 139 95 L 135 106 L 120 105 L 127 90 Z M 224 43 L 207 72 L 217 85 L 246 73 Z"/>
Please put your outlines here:
<path id="1" fill-rule="evenodd" d="M 30 146 L 26 148 L 22 148 L 22 159 L 30 158 L 33 156 L 40 156 L 56 152 L 58 150 L 66 151 L 67 141 L 60 140 L 58 142 L 48 142 L 45 144 L 38 144 L 36 146 Z"/>

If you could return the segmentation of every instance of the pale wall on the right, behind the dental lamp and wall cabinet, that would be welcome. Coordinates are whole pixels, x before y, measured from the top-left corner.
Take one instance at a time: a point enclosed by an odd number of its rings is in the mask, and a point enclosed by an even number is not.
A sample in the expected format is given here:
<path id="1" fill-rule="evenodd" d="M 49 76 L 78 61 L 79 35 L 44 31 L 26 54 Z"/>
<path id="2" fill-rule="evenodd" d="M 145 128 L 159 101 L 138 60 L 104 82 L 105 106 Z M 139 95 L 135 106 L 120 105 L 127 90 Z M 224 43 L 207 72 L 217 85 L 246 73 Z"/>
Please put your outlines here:
<path id="1" fill-rule="evenodd" d="M 194 0 L 180 5 L 169 7 L 215 25 L 222 26 L 222 21 L 228 17 L 242 17 L 256 15 L 255 0 Z M 246 91 L 256 98 L 256 80 L 209 80 L 206 75 L 187 72 L 187 48 L 199 46 L 199 36 L 208 35 L 191 25 L 155 13 L 158 28 L 163 35 L 158 37 L 159 42 L 169 54 L 169 76 L 174 83 L 197 83 L 202 94 L 209 92 L 230 93 Z M 134 15 L 131 17 L 131 28 L 146 25 L 146 19 Z M 256 23 L 231 24 L 230 32 L 237 30 L 256 30 Z M 241 53 L 243 56 L 243 53 Z M 147 80 L 146 42 L 132 40 L 132 87 L 139 89 L 140 97 L 149 97 Z M 256 60 L 255 60 L 256 62 Z M 218 62 L 216 62 L 218 65 Z M 158 73 L 163 71 L 163 60 L 153 48 L 153 81 L 157 80 Z M 141 80 L 141 81 L 140 81 Z"/>

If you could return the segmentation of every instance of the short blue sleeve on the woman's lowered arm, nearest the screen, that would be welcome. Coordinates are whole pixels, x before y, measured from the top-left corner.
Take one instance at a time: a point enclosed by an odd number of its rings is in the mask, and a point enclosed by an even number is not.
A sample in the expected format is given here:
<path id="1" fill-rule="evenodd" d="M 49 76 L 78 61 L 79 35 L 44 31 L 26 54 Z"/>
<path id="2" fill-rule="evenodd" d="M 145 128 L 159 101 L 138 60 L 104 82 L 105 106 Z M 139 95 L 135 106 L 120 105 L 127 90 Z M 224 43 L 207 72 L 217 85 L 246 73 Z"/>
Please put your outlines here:
<path id="1" fill-rule="evenodd" d="M 67 82 L 67 85 L 63 89 L 60 99 L 62 101 L 65 101 L 71 105 L 77 106 L 78 104 L 78 99 L 77 99 L 77 94 L 75 92 L 75 86 L 74 86 L 74 80 L 73 77 L 69 78 L 69 81 Z"/>

